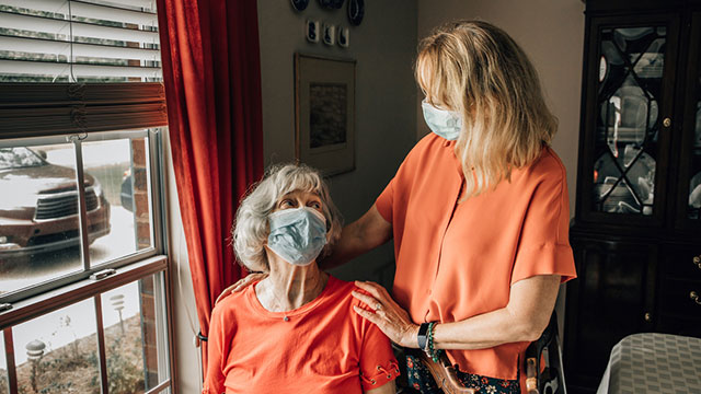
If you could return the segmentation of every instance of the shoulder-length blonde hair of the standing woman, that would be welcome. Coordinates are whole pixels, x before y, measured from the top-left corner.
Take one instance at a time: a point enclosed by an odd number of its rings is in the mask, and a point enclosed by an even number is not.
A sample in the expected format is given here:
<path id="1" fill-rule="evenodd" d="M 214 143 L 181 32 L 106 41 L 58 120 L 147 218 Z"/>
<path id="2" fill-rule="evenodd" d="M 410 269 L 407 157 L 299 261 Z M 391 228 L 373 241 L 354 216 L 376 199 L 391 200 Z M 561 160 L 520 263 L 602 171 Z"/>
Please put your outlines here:
<path id="1" fill-rule="evenodd" d="M 457 21 L 435 30 L 420 44 L 415 76 L 430 104 L 462 116 L 456 155 L 466 198 L 510 179 L 558 129 L 528 57 L 490 23 Z"/>

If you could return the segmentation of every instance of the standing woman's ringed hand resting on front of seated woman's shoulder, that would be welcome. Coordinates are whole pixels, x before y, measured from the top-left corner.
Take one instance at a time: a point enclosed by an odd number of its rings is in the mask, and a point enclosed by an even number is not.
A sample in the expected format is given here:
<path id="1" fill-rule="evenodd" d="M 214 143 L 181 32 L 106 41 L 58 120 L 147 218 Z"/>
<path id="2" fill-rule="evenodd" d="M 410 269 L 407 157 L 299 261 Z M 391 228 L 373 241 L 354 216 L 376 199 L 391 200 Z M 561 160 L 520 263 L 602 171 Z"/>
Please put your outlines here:
<path id="1" fill-rule="evenodd" d="M 353 297 L 367 304 L 375 312 L 353 306 L 355 312 L 377 325 L 393 343 L 407 347 L 418 348 L 418 325 L 409 317 L 409 313 L 392 300 L 387 290 L 378 283 L 370 281 L 357 281 L 355 286 L 370 293 L 364 294 L 353 291 Z"/>

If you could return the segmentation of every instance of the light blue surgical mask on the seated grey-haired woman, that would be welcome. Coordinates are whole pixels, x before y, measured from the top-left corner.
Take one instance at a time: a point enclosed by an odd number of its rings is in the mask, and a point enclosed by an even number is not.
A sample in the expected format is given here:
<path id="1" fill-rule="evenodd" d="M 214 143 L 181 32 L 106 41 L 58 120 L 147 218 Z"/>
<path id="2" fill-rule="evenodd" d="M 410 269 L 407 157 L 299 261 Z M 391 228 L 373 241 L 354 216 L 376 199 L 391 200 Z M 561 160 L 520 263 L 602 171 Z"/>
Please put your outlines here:
<path id="1" fill-rule="evenodd" d="M 279 210 L 268 215 L 267 222 L 267 246 L 289 264 L 310 264 L 326 244 L 326 219 L 315 209 Z"/>

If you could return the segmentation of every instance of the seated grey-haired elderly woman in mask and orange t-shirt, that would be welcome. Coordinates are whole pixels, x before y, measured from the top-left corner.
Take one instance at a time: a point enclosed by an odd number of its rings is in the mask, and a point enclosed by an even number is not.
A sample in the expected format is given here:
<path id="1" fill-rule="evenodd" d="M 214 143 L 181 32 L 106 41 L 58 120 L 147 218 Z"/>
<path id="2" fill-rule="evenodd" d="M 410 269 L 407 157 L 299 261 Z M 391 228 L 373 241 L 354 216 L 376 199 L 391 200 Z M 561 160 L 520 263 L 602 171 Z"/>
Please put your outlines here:
<path id="1" fill-rule="evenodd" d="M 319 173 L 268 170 L 243 198 L 233 229 L 239 260 L 268 276 L 211 314 L 203 393 L 393 393 L 389 339 L 354 312 L 353 283 L 319 269 L 341 223 Z"/>

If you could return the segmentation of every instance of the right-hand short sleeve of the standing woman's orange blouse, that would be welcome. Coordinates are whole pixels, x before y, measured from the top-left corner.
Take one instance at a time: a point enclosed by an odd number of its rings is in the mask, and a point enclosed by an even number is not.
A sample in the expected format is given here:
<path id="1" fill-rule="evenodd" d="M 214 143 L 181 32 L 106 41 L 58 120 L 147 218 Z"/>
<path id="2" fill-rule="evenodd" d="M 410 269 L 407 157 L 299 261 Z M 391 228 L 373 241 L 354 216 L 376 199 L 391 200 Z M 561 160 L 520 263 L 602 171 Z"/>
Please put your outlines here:
<path id="1" fill-rule="evenodd" d="M 536 275 L 576 278 L 570 246 L 570 200 L 565 171 L 553 158 L 551 170 L 537 184 L 526 212 L 516 251 L 512 285 Z"/>

